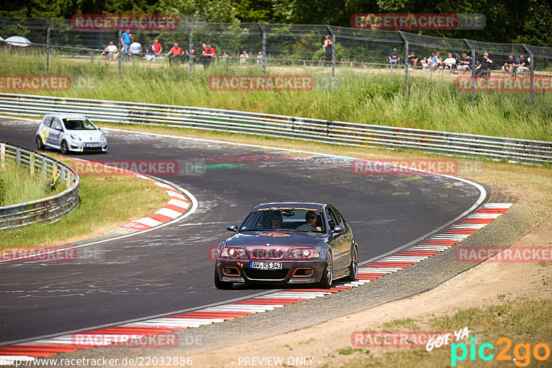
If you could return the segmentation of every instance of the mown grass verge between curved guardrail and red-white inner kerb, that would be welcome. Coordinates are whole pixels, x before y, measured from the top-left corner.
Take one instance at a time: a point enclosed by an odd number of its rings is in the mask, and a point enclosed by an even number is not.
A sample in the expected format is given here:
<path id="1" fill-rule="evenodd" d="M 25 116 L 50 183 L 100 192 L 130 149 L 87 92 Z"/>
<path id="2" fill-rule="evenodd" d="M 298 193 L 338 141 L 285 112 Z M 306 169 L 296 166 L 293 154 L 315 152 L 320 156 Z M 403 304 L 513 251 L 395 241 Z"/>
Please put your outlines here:
<path id="1" fill-rule="evenodd" d="M 70 159 L 56 159 L 66 165 Z M 163 207 L 168 196 L 135 176 L 81 176 L 80 204 L 55 223 L 36 223 L 0 231 L 0 250 L 28 249 L 78 241 L 104 234 L 127 221 Z"/>

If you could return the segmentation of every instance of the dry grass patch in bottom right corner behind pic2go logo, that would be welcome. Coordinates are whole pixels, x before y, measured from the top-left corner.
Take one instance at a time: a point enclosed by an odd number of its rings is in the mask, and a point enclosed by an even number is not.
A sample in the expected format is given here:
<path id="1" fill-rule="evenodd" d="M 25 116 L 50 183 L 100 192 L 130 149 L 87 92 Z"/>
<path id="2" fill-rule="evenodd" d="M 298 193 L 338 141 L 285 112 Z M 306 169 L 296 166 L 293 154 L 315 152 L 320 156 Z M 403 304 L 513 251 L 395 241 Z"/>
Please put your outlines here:
<path id="1" fill-rule="evenodd" d="M 470 336 L 475 336 L 475 359 L 471 360 L 469 339 L 461 340 L 466 344 L 468 355 L 464 360 L 456 362 L 456 367 L 503 367 L 512 363 L 516 367 L 550 367 L 551 358 L 538 360 L 533 355 L 535 345 L 544 343 L 549 348 L 552 341 L 552 300 L 502 300 L 501 303 L 490 307 L 458 309 L 451 314 L 417 320 L 417 328 L 412 331 L 451 331 L 468 327 Z M 384 325 L 385 328 L 385 325 Z M 504 331 L 508 333 L 504 334 Z M 508 338 L 511 346 L 501 342 L 500 338 Z M 499 342 L 497 343 L 497 340 Z M 483 343 L 493 345 L 494 349 L 487 347 L 485 355 L 494 354 L 492 360 L 482 360 L 478 355 Z M 518 344 L 526 347 L 518 347 Z M 461 348 L 457 350 L 457 356 L 461 356 Z M 509 363 L 497 360 L 497 354 L 504 350 L 504 356 L 509 356 Z M 369 353 L 365 349 L 338 349 L 335 354 L 355 354 L 351 360 L 342 367 L 368 368 L 368 367 L 451 367 L 451 347 L 434 348 L 426 351 L 424 347 L 396 348 L 375 347 Z M 366 356 L 366 354 L 368 354 Z M 540 347 L 538 354 L 545 355 L 544 347 Z"/>

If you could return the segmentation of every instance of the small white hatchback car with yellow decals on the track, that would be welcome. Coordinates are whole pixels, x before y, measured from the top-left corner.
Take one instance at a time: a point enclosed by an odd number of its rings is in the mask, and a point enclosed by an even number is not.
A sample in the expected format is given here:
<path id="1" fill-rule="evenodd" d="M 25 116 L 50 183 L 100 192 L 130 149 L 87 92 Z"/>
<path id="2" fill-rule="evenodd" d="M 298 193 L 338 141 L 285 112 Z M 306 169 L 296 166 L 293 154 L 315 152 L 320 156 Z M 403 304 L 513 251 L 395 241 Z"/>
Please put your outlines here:
<path id="1" fill-rule="evenodd" d="M 46 114 L 35 137 L 37 150 L 45 147 L 68 152 L 108 152 L 108 142 L 99 127 L 86 116 Z"/>

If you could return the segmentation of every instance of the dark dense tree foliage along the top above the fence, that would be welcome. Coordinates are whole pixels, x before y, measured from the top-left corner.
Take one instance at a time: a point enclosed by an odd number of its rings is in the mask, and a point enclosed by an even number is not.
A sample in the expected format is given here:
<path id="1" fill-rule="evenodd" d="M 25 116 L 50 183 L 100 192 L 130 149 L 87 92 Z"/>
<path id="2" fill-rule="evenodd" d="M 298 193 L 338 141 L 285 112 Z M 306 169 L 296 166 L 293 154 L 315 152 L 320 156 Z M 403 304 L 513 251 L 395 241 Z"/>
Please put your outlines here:
<path id="1" fill-rule="evenodd" d="M 271 22 L 350 26 L 355 13 L 482 13 L 484 30 L 420 31 L 455 38 L 552 46 L 549 0 L 10 0 L 0 16 L 71 18 L 73 14 L 197 14 L 212 22 Z"/>

